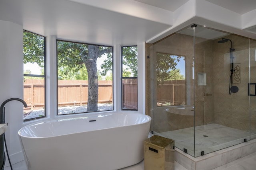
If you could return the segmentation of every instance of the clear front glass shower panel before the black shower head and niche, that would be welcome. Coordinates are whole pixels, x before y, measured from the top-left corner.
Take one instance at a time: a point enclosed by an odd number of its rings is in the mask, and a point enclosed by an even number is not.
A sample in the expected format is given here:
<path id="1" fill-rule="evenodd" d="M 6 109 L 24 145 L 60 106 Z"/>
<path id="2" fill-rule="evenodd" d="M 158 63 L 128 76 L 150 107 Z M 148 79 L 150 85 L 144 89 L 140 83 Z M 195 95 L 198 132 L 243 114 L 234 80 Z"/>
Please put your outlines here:
<path id="1" fill-rule="evenodd" d="M 249 41 L 195 27 L 195 156 L 250 140 Z"/>

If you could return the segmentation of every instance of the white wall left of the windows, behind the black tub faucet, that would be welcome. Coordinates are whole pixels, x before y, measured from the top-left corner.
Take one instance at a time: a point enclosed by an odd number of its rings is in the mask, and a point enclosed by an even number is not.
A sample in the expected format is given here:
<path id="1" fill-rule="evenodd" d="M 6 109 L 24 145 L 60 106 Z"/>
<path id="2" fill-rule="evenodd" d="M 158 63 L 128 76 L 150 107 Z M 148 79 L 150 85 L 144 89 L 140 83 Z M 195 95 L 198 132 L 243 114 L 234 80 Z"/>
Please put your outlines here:
<path id="1" fill-rule="evenodd" d="M 23 99 L 23 27 L 0 21 L 0 103 L 9 98 Z M 12 162 L 23 160 L 18 130 L 23 126 L 23 105 L 11 101 L 5 105 L 8 130 L 6 144 Z M 8 161 L 7 161 L 8 162 Z"/>

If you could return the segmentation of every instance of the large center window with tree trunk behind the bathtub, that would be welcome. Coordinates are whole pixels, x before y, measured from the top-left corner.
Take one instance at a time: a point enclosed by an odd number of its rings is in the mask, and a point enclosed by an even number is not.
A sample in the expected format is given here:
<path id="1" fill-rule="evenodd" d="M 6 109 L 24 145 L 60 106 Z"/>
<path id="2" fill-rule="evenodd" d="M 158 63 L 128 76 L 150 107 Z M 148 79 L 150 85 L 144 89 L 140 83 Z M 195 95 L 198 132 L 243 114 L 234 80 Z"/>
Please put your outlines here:
<path id="1" fill-rule="evenodd" d="M 113 47 L 57 41 L 58 115 L 113 110 Z"/>

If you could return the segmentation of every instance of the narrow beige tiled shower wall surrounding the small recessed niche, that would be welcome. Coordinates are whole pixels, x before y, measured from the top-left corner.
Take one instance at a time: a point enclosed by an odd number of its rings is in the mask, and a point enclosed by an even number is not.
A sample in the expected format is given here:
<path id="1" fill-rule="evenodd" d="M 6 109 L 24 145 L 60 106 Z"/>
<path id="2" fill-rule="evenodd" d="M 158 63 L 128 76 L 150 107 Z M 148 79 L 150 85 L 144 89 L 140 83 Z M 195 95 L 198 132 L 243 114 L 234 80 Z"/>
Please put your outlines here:
<path id="1" fill-rule="evenodd" d="M 194 57 L 194 107 L 195 126 L 214 123 L 213 94 L 213 41 L 195 38 Z M 198 73 L 206 73 L 206 85 L 198 85 Z"/>

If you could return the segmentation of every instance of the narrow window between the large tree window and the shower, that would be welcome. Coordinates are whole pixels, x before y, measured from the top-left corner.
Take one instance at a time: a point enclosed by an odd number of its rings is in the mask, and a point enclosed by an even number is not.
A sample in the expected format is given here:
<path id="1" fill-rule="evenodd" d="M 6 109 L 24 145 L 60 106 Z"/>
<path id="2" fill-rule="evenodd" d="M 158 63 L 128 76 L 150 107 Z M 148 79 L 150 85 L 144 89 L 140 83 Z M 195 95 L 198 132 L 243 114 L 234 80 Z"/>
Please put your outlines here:
<path id="1" fill-rule="evenodd" d="M 138 110 L 137 46 L 122 47 L 122 110 Z"/>

